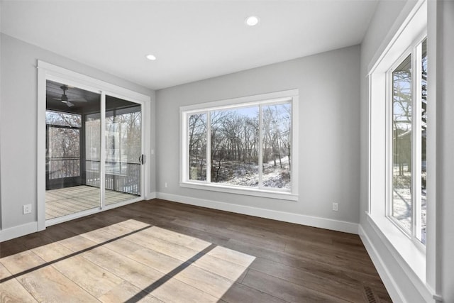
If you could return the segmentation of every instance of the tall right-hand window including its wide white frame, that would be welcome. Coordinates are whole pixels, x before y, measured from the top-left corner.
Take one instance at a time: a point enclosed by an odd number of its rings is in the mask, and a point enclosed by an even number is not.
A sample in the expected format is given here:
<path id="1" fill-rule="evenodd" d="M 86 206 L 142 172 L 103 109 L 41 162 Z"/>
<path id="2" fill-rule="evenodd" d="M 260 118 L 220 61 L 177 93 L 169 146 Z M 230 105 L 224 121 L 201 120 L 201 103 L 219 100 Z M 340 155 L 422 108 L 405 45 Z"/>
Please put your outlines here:
<path id="1" fill-rule="evenodd" d="M 427 16 L 427 1 L 418 1 L 408 16 L 402 15 L 403 23 L 392 29 L 394 35 L 380 46 L 367 73 L 367 224 L 399 266 L 411 269 L 406 272 L 416 289 L 424 287 L 436 255 L 433 214 L 426 216 L 426 203 L 435 203 L 435 182 L 426 177 L 426 168 L 433 174 L 436 160 L 435 104 L 426 94 L 431 65 Z"/>

